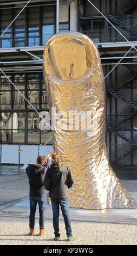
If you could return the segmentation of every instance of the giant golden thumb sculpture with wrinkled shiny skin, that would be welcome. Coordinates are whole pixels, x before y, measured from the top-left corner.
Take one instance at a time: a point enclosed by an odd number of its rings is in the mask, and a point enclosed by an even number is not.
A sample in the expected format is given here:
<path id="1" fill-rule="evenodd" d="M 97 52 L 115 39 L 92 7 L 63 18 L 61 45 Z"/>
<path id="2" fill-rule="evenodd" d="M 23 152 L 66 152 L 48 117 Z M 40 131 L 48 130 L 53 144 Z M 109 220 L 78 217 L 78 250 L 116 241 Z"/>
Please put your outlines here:
<path id="1" fill-rule="evenodd" d="M 56 108 L 54 150 L 75 179 L 69 193 L 70 206 L 136 208 L 109 165 L 105 86 L 95 44 L 78 32 L 57 33 L 45 45 L 43 62 L 50 115 L 52 107 Z"/>

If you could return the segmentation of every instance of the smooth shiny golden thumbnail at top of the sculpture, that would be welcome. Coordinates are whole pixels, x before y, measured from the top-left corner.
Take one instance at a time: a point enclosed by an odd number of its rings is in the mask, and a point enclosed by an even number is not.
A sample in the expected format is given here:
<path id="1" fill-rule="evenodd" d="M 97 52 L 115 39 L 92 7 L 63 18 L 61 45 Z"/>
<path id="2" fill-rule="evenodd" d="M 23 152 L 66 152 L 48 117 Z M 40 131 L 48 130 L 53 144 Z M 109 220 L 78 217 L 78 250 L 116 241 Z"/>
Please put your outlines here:
<path id="1" fill-rule="evenodd" d="M 89 66 L 88 54 L 84 43 L 79 39 L 58 38 L 49 46 L 52 72 L 60 80 L 74 80 L 82 77 Z M 77 63 L 81 63 L 77 65 Z"/>

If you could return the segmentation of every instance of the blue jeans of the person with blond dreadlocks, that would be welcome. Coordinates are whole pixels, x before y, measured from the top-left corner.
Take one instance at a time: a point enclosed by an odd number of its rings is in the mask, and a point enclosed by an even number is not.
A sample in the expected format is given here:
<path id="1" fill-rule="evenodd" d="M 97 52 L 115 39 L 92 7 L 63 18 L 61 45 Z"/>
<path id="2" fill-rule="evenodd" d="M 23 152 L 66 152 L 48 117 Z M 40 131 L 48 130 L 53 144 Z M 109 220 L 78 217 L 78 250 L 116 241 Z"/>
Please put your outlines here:
<path id="1" fill-rule="evenodd" d="M 66 227 L 66 233 L 67 236 L 71 236 L 71 222 L 69 217 L 69 206 L 68 206 L 68 199 L 51 199 L 51 205 L 53 210 L 53 227 L 54 227 L 54 234 L 55 236 L 60 237 L 59 233 L 59 215 L 60 215 L 60 209 L 59 205 L 61 206 L 62 215 L 64 217 L 64 223 Z"/>

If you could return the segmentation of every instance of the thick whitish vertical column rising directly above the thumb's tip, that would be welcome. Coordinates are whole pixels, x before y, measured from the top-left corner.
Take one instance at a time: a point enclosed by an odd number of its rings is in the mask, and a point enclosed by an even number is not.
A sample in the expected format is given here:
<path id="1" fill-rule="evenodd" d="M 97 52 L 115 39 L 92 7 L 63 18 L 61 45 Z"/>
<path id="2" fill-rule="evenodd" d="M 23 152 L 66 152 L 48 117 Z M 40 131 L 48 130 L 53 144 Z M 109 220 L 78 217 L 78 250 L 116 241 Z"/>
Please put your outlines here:
<path id="1" fill-rule="evenodd" d="M 70 31 L 77 31 L 78 28 L 77 0 L 70 1 Z"/>

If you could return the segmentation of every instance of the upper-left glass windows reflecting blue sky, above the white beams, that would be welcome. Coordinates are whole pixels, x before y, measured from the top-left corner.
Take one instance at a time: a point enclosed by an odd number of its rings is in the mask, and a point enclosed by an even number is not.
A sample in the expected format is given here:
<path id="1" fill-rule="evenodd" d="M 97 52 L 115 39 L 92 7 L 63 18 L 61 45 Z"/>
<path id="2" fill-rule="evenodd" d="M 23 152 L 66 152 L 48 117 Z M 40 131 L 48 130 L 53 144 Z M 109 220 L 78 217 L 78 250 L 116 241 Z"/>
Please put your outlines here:
<path id="1" fill-rule="evenodd" d="M 1 34 L 21 9 L 1 10 Z M 55 33 L 56 7 L 25 8 L 1 38 L 1 48 L 45 45 Z"/>

